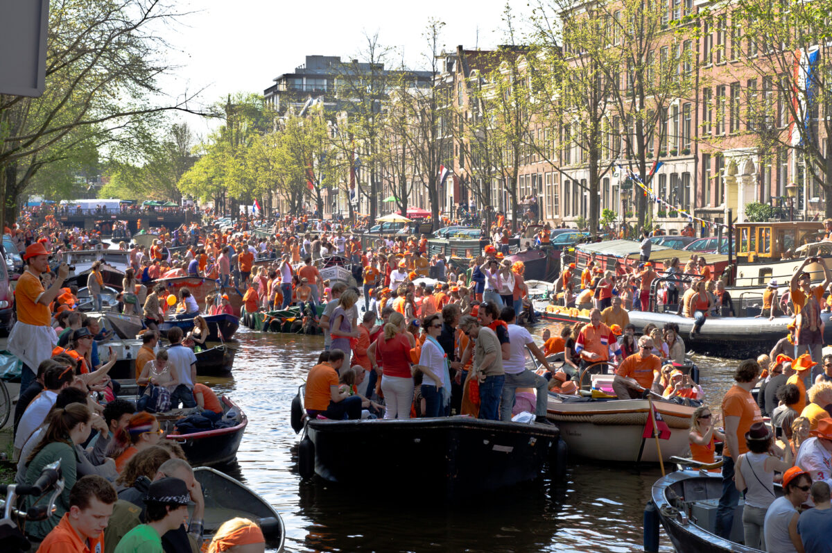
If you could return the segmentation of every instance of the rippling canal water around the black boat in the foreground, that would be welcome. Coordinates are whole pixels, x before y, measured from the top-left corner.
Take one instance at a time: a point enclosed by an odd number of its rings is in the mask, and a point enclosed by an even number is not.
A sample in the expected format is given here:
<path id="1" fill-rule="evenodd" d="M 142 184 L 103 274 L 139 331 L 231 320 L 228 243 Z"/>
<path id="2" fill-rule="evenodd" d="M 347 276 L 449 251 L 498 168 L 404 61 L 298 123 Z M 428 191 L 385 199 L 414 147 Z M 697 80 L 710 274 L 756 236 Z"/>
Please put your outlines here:
<path id="1" fill-rule="evenodd" d="M 545 325 L 545 326 L 544 326 Z M 539 336 L 549 326 L 532 330 Z M 240 327 L 233 376 L 201 378 L 249 417 L 237 461 L 217 467 L 245 481 L 280 512 L 286 551 L 641 551 L 642 513 L 658 466 L 570 460 L 567 481 L 543 478 L 498 495 L 446 505 L 425 496 L 418 474 L 390 483 L 366 460 L 366 485 L 342 489 L 302 482 L 290 401 L 323 349 L 323 336 L 260 333 Z M 718 408 L 736 361 L 694 356 L 706 401 Z M 361 455 L 361 451 L 344 452 Z M 661 551 L 673 551 L 661 536 Z"/>

